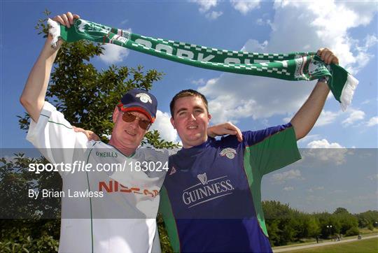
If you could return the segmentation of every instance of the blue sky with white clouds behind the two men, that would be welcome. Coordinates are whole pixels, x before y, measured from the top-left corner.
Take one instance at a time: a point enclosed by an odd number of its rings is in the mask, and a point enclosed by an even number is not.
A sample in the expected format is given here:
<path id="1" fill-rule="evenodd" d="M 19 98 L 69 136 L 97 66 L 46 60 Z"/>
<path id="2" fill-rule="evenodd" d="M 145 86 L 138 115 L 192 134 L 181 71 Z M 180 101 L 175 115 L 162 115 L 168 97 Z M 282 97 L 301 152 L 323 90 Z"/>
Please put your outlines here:
<path id="1" fill-rule="evenodd" d="M 359 80 L 351 106 L 343 112 L 328 96 L 314 129 L 298 142 L 304 159 L 267 175 L 262 197 L 306 212 L 333 212 L 339 206 L 351 212 L 378 210 L 377 1 L 1 1 L 0 8 L 1 148 L 31 147 L 16 115 L 25 112 L 19 97 L 44 43 L 34 26 L 46 8 L 51 17 L 71 11 L 132 33 L 212 48 L 269 53 L 330 48 Z M 151 92 L 159 101 L 153 129 L 166 140 L 179 141 L 169 122 L 169 101 L 181 89 L 207 96 L 212 124 L 230 121 L 246 131 L 290 121 L 315 85 L 210 71 L 115 45 L 105 48 L 92 60 L 98 69 L 141 64 L 165 73 Z M 307 164 L 311 152 L 318 159 Z"/>

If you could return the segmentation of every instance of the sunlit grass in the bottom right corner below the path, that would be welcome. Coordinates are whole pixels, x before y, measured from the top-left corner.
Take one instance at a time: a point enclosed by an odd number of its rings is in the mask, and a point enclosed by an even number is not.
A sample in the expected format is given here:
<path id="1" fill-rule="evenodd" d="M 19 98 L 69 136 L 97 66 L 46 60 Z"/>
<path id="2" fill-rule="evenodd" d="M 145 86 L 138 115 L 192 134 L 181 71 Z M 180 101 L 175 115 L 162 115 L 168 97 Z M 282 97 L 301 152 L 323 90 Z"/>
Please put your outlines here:
<path id="1" fill-rule="evenodd" d="M 358 240 L 350 243 L 341 243 L 337 245 L 327 245 L 324 247 L 314 247 L 304 250 L 293 250 L 288 253 L 377 253 L 378 252 L 378 238 Z"/>

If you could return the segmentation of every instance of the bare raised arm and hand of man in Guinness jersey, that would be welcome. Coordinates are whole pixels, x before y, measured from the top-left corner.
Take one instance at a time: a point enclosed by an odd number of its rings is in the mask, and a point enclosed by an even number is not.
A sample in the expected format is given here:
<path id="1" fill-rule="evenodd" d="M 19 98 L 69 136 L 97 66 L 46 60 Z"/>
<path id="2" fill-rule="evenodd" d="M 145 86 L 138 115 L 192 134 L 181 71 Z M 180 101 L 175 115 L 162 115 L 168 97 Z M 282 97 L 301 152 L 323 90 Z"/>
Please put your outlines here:
<path id="1" fill-rule="evenodd" d="M 339 59 L 328 48 L 321 48 L 318 50 L 317 55 L 325 62 L 325 64 L 339 64 Z M 312 90 L 309 98 L 302 105 L 300 110 L 297 111 L 291 124 L 295 130 L 295 137 L 297 140 L 303 138 L 314 127 L 316 120 L 318 120 L 321 110 L 327 99 L 330 89 L 325 80 L 318 81 Z"/>

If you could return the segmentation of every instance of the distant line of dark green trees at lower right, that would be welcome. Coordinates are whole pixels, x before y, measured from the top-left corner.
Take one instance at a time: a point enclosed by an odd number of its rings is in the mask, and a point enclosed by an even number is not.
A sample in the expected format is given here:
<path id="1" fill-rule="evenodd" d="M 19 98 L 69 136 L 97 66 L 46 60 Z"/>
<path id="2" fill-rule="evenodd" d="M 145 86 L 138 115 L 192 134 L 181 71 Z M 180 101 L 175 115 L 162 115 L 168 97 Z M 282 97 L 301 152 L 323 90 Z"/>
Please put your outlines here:
<path id="1" fill-rule="evenodd" d="M 286 245 L 307 238 L 326 239 L 337 236 L 356 236 L 359 228 L 378 227 L 378 211 L 351 214 L 345 208 L 335 212 L 305 213 L 279 201 L 262 201 L 270 243 Z"/>

